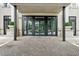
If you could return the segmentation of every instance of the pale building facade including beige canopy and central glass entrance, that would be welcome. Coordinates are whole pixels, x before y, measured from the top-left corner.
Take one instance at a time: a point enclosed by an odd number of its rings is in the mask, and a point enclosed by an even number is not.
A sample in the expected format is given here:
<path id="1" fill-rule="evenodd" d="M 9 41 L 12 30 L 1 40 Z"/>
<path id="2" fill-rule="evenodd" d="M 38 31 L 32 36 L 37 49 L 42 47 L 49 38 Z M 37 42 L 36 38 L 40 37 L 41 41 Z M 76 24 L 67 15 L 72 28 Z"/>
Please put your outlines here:
<path id="1" fill-rule="evenodd" d="M 1 9 L 2 7 L 0 7 Z M 9 8 L 1 9 L 2 33 L 5 31 L 3 17 L 10 15 L 15 22 L 16 36 L 65 36 L 65 22 L 75 20 L 73 23 L 73 35 L 79 31 L 79 8 L 75 4 L 52 3 L 12 3 Z M 2 15 L 3 14 L 3 15 Z"/>

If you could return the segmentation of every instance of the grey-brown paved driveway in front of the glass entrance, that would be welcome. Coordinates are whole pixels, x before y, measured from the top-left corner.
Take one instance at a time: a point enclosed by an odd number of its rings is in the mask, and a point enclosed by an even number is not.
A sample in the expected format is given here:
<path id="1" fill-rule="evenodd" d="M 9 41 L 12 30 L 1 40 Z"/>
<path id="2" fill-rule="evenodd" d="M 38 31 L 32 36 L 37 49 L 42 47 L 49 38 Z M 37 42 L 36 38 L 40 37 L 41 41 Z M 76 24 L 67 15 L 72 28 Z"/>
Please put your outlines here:
<path id="1" fill-rule="evenodd" d="M 79 56 L 79 47 L 59 37 L 26 36 L 0 47 L 2 56 Z"/>

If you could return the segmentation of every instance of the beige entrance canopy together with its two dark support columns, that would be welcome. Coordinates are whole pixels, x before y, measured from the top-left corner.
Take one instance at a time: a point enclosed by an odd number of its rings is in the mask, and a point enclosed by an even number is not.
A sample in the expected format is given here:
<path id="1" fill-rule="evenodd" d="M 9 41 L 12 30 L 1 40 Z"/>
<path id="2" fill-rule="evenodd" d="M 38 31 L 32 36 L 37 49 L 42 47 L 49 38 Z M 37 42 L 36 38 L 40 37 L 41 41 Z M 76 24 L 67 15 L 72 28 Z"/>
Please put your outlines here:
<path id="1" fill-rule="evenodd" d="M 24 13 L 26 13 L 26 14 L 27 13 L 37 13 L 37 14 L 47 13 L 47 15 L 48 15 L 48 13 L 52 13 L 52 14 L 56 13 L 56 15 L 57 15 L 60 11 L 62 11 L 62 15 L 61 15 L 62 16 L 62 27 L 63 27 L 62 28 L 62 34 L 63 34 L 62 37 L 63 37 L 63 41 L 65 41 L 65 25 L 64 25 L 65 24 L 65 7 L 68 6 L 69 4 L 70 3 L 12 3 L 12 5 L 14 5 L 14 20 L 15 20 L 14 40 L 17 40 L 17 36 L 18 36 L 18 32 L 19 32 L 18 28 L 17 28 L 17 25 L 18 25 L 17 24 L 17 10 L 18 10 L 20 13 L 22 13 L 22 15 Z M 46 19 L 47 19 L 47 17 L 45 17 L 45 20 Z M 44 22 L 44 21 L 42 21 L 42 22 Z M 37 23 L 40 24 L 41 22 L 37 22 Z M 45 21 L 44 23 L 46 25 L 47 21 Z M 51 24 L 53 24 L 53 23 L 51 23 Z M 35 25 L 35 22 L 33 23 L 33 25 Z M 47 25 L 45 26 L 45 28 L 46 27 L 47 27 Z M 35 30 L 34 26 L 33 26 L 33 30 Z M 22 29 L 22 31 L 23 31 L 23 29 Z M 39 32 L 39 31 L 36 31 L 36 33 L 37 32 Z M 34 31 L 32 33 L 34 33 Z M 41 32 L 39 32 L 39 33 L 41 33 Z M 47 29 L 45 29 L 45 33 L 47 35 Z"/>

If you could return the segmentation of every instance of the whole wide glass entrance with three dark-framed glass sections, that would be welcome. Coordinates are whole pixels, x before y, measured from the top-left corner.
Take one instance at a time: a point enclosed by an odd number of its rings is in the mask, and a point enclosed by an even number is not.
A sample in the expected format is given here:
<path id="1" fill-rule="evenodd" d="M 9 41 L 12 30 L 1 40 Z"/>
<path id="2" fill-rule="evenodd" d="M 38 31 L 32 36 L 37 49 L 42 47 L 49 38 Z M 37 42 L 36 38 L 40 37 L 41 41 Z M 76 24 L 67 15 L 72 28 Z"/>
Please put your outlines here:
<path id="1" fill-rule="evenodd" d="M 57 35 L 57 17 L 23 16 L 22 33 L 32 36 Z"/>

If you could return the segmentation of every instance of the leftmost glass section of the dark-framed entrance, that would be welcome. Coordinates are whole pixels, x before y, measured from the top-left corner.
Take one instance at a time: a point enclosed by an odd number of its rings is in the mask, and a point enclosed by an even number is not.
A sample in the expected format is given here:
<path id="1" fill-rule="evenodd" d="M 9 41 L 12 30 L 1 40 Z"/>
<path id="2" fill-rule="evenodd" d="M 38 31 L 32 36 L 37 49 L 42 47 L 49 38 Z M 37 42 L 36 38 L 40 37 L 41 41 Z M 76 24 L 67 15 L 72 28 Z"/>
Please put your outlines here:
<path id="1" fill-rule="evenodd" d="M 32 18 L 31 17 L 23 17 L 23 25 L 22 25 L 23 35 L 32 35 Z"/>

